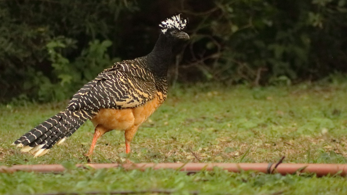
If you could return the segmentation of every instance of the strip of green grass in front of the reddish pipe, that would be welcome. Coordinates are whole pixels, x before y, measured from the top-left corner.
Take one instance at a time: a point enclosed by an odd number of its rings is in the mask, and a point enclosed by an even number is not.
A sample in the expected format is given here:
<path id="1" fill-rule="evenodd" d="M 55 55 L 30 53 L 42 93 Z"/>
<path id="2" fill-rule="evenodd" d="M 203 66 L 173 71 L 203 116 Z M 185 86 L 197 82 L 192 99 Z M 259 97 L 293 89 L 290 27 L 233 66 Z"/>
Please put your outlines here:
<path id="1" fill-rule="evenodd" d="M 2 194 L 321 194 L 344 195 L 344 177 L 176 170 L 76 169 L 64 174 L 0 173 Z M 64 187 L 62 187 L 64 186 Z M 328 187 L 327 187 L 328 186 Z M 162 191 L 157 193 L 155 191 Z"/>

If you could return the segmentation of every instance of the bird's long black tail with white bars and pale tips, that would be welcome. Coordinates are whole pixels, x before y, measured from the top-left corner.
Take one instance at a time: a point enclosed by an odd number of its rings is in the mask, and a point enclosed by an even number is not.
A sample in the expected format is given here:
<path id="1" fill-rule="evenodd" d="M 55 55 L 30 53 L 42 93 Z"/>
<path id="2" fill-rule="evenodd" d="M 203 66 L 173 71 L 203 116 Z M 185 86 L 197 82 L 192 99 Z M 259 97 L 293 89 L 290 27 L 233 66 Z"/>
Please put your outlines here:
<path id="1" fill-rule="evenodd" d="M 48 152 L 56 143 L 60 144 L 71 136 L 88 119 L 98 111 L 65 110 L 45 120 L 31 129 L 12 145 L 23 147 L 22 152 L 31 152 L 35 157 Z"/>

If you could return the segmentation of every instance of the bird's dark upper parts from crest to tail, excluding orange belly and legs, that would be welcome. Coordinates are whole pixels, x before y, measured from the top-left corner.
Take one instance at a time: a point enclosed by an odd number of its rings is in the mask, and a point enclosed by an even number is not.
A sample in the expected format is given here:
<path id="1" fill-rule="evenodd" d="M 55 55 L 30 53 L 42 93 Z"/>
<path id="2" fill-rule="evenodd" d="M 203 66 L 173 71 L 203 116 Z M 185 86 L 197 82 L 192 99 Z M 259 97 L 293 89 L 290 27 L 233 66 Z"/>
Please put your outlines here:
<path id="1" fill-rule="evenodd" d="M 13 145 L 23 147 L 23 152 L 42 156 L 98 115 L 100 109 L 136 108 L 153 100 L 158 92 L 166 97 L 172 46 L 178 40 L 189 39 L 186 33 L 176 30 L 185 28 L 187 21 L 180 15 L 164 20 L 160 24 L 162 33 L 151 53 L 105 69 L 73 96 L 64 111 L 31 129 Z"/>

